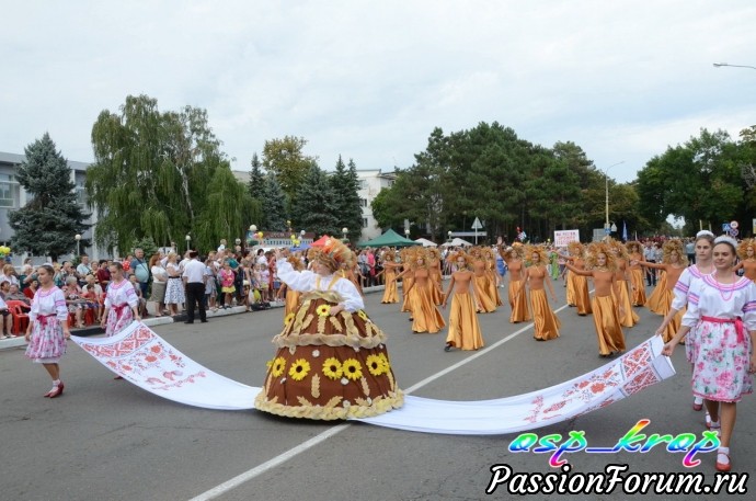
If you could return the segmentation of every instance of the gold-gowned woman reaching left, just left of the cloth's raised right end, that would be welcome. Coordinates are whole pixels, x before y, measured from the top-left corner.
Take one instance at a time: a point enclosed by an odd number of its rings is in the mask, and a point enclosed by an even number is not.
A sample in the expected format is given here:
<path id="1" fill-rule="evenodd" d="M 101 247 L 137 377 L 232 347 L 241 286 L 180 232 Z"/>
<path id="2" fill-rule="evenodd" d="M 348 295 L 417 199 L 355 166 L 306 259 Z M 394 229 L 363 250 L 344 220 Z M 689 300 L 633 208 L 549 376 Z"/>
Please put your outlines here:
<path id="1" fill-rule="evenodd" d="M 587 270 L 579 270 L 569 263 L 566 266 L 575 274 L 593 277 L 595 292 L 592 309 L 598 340 L 598 356 L 609 357 L 625 351 L 625 334 L 620 324 L 620 315 L 625 307 L 618 307 L 615 299 L 619 296 L 617 261 L 609 244 L 596 242 L 588 248 L 586 264 Z"/>

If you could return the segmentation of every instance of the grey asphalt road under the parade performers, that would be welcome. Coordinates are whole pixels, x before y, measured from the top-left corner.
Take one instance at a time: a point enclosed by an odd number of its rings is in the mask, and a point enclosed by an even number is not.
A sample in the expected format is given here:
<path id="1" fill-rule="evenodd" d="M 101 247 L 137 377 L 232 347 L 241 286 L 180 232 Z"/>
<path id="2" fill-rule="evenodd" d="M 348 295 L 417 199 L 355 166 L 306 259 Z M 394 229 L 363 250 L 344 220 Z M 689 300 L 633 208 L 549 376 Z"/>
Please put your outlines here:
<path id="1" fill-rule="evenodd" d="M 504 295 L 504 289 L 500 289 Z M 557 287 L 563 306 L 564 288 Z M 389 334 L 389 352 L 401 387 L 425 382 L 413 395 L 478 400 L 519 395 L 562 383 L 606 361 L 598 358 L 591 317 L 559 312 L 561 338 L 536 342 L 529 324 L 508 323 L 508 305 L 480 316 L 486 345 L 518 332 L 500 346 L 476 352 L 443 351 L 446 331 L 412 334 L 398 305 L 369 294 L 366 309 Z M 637 308 L 641 323 L 626 330 L 628 346 L 652 335 L 661 317 Z M 274 353 L 271 338 L 282 309 L 174 323 L 154 330 L 190 357 L 232 379 L 260 386 Z M 453 364 L 470 363 L 433 378 Z M 608 408 L 537 430 L 539 436 L 584 431 L 588 445 L 611 446 L 639 420 L 653 433 L 700 437 L 703 413 L 691 410 L 684 350 L 673 356 L 677 376 Z M 362 423 L 323 423 L 276 418 L 259 411 L 204 410 L 163 400 L 112 374 L 70 343 L 62 360 L 66 392 L 46 399 L 49 379 L 21 349 L 0 351 L 1 500 L 473 500 L 484 499 L 491 466 L 515 472 L 558 472 L 548 456 L 511 453 L 517 436 L 431 435 Z M 253 398 L 253 396 L 250 396 Z M 732 444 L 734 471 L 756 462 L 753 398 L 738 406 Z M 308 442 L 310 441 L 310 442 Z M 701 466 L 683 466 L 683 454 L 656 447 L 648 454 L 570 455 L 573 472 L 604 471 L 627 464 L 631 472 L 706 474 L 713 481 L 713 454 Z M 243 476 L 243 479 L 239 479 Z M 231 479 L 237 479 L 228 482 Z M 746 487 L 747 486 L 746 483 Z M 706 496 L 649 494 L 654 499 Z M 550 499 L 555 494 L 534 494 Z M 726 497 L 722 493 L 718 498 Z M 511 499 L 505 487 L 492 498 Z M 585 494 L 580 499 L 628 499 Z M 742 497 L 731 496 L 733 499 Z"/>

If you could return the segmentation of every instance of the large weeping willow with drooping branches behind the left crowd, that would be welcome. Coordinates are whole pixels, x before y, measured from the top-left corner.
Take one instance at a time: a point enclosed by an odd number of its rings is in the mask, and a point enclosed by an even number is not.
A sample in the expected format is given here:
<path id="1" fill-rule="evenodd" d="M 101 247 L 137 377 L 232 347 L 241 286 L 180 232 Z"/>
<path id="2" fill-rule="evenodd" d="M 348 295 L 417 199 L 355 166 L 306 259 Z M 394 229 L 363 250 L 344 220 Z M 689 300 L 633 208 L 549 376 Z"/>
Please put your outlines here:
<path id="1" fill-rule="evenodd" d="M 157 100 L 129 95 L 119 113 L 100 114 L 92 146 L 87 193 L 102 246 L 130 249 L 147 237 L 165 246 L 192 235 L 196 248 L 208 249 L 239 236 L 244 225 L 238 218 L 253 220 L 255 205 L 239 196 L 238 182 L 230 183 L 228 160 L 204 110 L 161 113 Z"/>

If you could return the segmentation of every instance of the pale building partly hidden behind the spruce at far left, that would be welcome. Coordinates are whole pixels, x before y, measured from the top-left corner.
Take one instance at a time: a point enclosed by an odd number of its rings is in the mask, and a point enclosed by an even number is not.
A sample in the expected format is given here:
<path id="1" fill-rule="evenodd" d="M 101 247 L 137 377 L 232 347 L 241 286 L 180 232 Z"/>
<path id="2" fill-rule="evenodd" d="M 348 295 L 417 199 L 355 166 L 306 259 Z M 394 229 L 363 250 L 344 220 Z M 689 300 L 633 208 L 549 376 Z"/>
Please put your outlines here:
<path id="1" fill-rule="evenodd" d="M 25 161 L 26 157 L 16 153 L 7 153 L 0 151 L 0 242 L 5 246 L 10 246 L 11 238 L 13 237 L 13 229 L 8 221 L 8 214 L 11 210 L 18 210 L 19 208 L 26 205 L 28 201 L 28 194 L 19 184 L 15 179 L 15 172 L 21 163 Z M 68 167 L 71 169 L 71 181 L 76 186 L 76 194 L 79 204 L 84 208 L 84 212 L 90 212 L 87 207 L 87 193 L 84 191 L 84 181 L 87 179 L 87 168 L 89 163 L 84 162 L 73 162 L 69 161 Z M 92 214 L 91 219 L 85 223 L 94 225 L 96 223 L 96 215 Z M 88 229 L 84 234 L 81 234 L 82 240 L 92 240 L 92 228 Z M 76 235 L 71 235 L 71 242 L 76 242 Z M 98 249 L 96 246 L 92 244 L 90 247 L 80 247 L 81 252 L 85 252 L 93 259 L 99 259 L 102 257 L 106 258 L 105 251 Z M 11 251 L 13 248 L 11 247 Z M 44 257 L 35 257 L 35 262 L 43 262 Z M 62 258 L 62 257 L 61 257 Z M 13 264 L 21 264 L 22 257 L 14 253 Z"/>

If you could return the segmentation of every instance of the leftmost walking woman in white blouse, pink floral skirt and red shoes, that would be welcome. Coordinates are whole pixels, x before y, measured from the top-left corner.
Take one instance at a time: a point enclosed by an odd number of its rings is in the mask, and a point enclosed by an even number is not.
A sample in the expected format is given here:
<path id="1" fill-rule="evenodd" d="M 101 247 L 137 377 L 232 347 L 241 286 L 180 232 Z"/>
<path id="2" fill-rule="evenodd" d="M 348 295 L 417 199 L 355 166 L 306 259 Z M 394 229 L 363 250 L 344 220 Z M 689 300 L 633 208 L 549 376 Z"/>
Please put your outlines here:
<path id="1" fill-rule="evenodd" d="M 56 398 L 64 391 L 60 380 L 60 357 L 66 353 L 66 340 L 71 338 L 68 330 L 68 308 L 62 291 L 55 286 L 55 270 L 49 264 L 37 269 L 39 289 L 32 299 L 28 312 L 28 327 L 25 339 L 26 356 L 42 364 L 53 379 L 53 388 L 45 397 Z M 134 287 L 131 287 L 134 291 Z"/>

